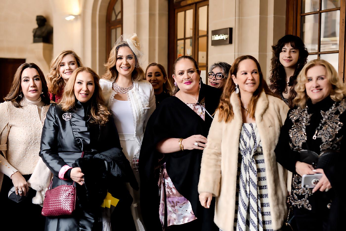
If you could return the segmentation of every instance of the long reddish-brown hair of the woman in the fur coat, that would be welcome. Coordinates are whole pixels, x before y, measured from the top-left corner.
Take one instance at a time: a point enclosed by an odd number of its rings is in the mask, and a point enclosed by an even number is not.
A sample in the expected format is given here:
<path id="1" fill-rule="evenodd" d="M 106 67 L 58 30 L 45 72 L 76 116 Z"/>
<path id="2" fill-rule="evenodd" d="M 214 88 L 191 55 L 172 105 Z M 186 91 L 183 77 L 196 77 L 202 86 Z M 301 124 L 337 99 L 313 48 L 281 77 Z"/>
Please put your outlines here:
<path id="1" fill-rule="evenodd" d="M 219 103 L 219 106 L 217 108 L 217 111 L 219 111 L 219 122 L 221 122 L 221 121 L 230 122 L 233 119 L 234 112 L 233 112 L 233 108 L 232 108 L 232 105 L 230 102 L 230 98 L 231 98 L 232 93 L 236 90 L 236 85 L 233 81 L 233 78 L 231 78 L 231 77 L 232 77 L 232 75 L 237 76 L 239 63 L 242 62 L 243 60 L 246 60 L 246 59 L 251 59 L 256 63 L 258 74 L 260 75 L 260 84 L 258 85 L 258 88 L 256 89 L 256 91 L 253 93 L 253 96 L 249 102 L 249 106 L 248 106 L 249 116 L 252 118 L 255 117 L 256 103 L 257 103 L 258 98 L 260 98 L 262 91 L 264 91 L 265 94 L 267 94 L 267 95 L 274 96 L 273 92 L 269 89 L 267 83 L 265 82 L 265 80 L 263 78 L 261 66 L 258 63 L 258 61 L 251 55 L 239 56 L 239 57 L 237 57 L 237 59 L 233 62 L 232 66 L 231 66 L 231 69 L 230 69 L 229 75 L 228 75 L 229 78 L 227 78 L 224 90 L 222 91 L 220 103 Z"/>

